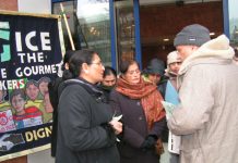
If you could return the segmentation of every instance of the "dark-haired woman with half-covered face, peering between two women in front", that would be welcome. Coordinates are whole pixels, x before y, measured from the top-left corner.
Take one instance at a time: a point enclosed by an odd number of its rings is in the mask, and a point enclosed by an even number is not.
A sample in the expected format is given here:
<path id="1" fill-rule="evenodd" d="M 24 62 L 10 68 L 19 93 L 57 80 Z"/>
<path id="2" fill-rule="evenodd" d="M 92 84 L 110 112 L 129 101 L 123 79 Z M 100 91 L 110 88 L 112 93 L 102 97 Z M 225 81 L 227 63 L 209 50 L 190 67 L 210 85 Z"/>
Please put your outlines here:
<path id="1" fill-rule="evenodd" d="M 110 66 L 105 66 L 103 80 L 102 80 L 99 87 L 104 91 L 104 95 L 108 101 L 109 101 L 110 91 L 115 87 L 116 83 L 117 83 L 116 71 Z"/>

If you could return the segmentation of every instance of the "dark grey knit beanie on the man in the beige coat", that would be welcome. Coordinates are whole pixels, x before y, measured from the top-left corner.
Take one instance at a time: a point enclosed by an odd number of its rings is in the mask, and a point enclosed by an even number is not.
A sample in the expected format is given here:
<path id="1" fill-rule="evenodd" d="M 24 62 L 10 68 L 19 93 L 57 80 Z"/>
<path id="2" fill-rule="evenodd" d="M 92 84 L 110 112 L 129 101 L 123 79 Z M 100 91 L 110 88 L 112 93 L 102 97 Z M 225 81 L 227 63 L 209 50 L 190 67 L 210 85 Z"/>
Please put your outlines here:
<path id="1" fill-rule="evenodd" d="M 176 35 L 174 46 L 191 45 L 200 47 L 209 40 L 211 40 L 210 30 L 200 24 L 192 24 L 186 26 Z"/>

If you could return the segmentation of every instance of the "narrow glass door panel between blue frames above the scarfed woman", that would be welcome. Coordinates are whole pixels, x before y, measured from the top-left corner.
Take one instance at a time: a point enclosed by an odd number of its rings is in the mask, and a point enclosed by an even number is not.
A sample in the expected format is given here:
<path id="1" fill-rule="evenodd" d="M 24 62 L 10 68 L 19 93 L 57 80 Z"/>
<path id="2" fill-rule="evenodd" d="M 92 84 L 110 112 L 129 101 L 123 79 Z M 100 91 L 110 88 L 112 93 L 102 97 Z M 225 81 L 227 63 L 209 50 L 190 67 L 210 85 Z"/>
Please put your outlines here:
<path id="1" fill-rule="evenodd" d="M 138 37 L 140 41 L 140 33 L 136 33 L 136 28 L 140 27 L 135 24 L 135 18 L 139 18 L 134 10 L 135 7 L 139 9 L 136 2 L 135 0 L 114 1 L 117 65 L 126 60 L 136 60 L 141 64 L 140 52 L 136 52 L 141 48 L 141 45 L 136 46 Z"/>

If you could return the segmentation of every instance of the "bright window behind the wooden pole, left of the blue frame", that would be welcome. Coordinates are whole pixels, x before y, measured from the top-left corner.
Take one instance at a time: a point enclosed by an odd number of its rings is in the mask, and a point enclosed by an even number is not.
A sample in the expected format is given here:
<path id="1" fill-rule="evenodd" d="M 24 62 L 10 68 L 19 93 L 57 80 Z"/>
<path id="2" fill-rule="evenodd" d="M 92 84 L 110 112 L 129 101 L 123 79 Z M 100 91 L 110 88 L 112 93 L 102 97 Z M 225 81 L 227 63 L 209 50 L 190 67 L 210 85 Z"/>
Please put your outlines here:
<path id="1" fill-rule="evenodd" d="M 61 2 L 75 49 L 90 48 L 100 54 L 105 65 L 111 65 L 109 0 L 72 0 Z M 60 3 L 53 3 L 53 13 L 61 14 Z M 66 50 L 70 50 L 70 41 L 63 20 L 62 30 Z"/>

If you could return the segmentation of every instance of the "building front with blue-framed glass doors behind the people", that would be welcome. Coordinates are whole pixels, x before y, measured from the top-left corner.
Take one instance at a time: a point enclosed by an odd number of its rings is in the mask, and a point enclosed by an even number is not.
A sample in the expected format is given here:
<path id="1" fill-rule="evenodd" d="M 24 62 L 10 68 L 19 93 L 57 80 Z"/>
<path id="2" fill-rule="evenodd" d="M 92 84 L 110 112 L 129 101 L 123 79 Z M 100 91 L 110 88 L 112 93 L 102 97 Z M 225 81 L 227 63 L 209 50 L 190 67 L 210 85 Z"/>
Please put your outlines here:
<path id="1" fill-rule="evenodd" d="M 23 1 L 0 0 L 0 10 L 19 12 Z M 167 53 L 175 50 L 175 35 L 183 26 L 193 23 L 210 28 L 211 37 L 226 34 L 230 43 L 238 46 L 237 0 L 46 1 L 49 2 L 48 11 L 44 12 L 51 14 L 62 15 L 60 3 L 63 5 L 75 49 L 95 49 L 104 64 L 116 70 L 128 59 L 135 59 L 141 68 L 152 58 L 166 61 Z M 27 7 L 27 0 L 24 7 Z M 66 50 L 70 50 L 72 42 L 63 20 L 62 32 Z M 44 158 L 44 154 L 40 156 Z M 27 163 L 27 156 L 21 156 L 3 163 Z"/>

